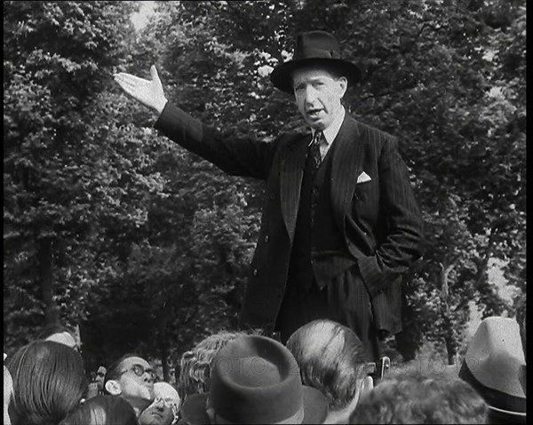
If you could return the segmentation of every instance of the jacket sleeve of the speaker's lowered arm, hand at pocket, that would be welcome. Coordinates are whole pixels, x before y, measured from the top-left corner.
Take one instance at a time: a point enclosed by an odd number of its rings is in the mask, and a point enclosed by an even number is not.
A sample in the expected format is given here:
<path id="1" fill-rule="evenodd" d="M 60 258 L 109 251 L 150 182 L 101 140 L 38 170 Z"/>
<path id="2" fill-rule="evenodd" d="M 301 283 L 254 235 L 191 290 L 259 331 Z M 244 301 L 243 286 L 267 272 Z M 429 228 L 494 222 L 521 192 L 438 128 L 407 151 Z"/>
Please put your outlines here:
<path id="1" fill-rule="evenodd" d="M 406 272 L 422 256 L 423 220 L 410 185 L 409 170 L 398 153 L 396 141 L 386 138 L 378 161 L 380 214 L 386 236 L 373 256 L 358 259 L 362 279 L 370 295 Z"/>

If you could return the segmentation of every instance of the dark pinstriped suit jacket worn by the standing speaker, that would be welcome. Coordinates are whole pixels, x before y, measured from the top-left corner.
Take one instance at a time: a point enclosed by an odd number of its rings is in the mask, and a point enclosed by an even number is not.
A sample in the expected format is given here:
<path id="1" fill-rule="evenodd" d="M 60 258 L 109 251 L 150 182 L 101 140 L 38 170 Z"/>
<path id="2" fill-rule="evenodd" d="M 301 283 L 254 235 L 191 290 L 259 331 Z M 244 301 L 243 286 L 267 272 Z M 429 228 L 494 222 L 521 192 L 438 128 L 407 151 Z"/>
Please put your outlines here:
<path id="1" fill-rule="evenodd" d="M 242 319 L 273 330 L 285 292 L 309 135 L 283 134 L 272 143 L 227 138 L 170 103 L 155 129 L 231 175 L 267 181 Z M 397 333 L 402 328 L 401 273 L 422 255 L 423 222 L 408 169 L 394 138 L 348 114 L 333 143 L 335 220 L 370 294 L 376 327 Z M 358 184 L 362 171 L 371 179 Z"/>

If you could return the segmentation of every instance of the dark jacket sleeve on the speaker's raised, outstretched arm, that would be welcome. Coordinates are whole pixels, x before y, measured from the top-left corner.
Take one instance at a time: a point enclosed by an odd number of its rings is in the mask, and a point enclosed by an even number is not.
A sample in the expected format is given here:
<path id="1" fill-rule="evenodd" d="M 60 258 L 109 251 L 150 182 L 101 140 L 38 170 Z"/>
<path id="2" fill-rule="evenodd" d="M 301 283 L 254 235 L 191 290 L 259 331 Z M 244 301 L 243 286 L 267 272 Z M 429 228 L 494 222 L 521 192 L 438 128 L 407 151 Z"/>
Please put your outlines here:
<path id="1" fill-rule="evenodd" d="M 277 146 L 275 142 L 224 136 L 170 102 L 164 106 L 154 128 L 179 146 L 235 176 L 267 179 Z"/>

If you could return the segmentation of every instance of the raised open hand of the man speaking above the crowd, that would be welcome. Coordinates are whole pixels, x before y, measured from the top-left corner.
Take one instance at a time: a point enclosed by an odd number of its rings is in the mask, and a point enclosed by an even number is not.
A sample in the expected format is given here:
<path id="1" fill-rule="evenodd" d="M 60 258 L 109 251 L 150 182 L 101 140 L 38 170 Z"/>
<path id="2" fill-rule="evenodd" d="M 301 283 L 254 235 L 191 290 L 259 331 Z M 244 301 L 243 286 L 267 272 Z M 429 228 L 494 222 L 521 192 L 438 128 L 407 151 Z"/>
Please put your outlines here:
<path id="1" fill-rule="evenodd" d="M 115 82 L 131 98 L 139 100 L 143 105 L 155 109 L 158 114 L 161 114 L 167 99 L 164 97 L 163 84 L 159 79 L 159 75 L 157 75 L 155 65 L 150 67 L 150 75 L 152 76 L 152 81 L 126 73 L 118 73 L 113 76 L 115 77 Z"/>

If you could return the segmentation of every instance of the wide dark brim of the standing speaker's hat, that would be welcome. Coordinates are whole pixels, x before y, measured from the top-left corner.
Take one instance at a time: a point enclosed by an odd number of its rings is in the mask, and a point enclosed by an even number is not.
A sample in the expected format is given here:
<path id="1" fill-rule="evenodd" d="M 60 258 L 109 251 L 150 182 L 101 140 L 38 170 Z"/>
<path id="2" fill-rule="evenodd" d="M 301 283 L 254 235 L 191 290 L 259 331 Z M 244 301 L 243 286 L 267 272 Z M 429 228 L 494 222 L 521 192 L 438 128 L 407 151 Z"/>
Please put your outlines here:
<path id="1" fill-rule="evenodd" d="M 270 74 L 270 81 L 276 89 L 292 94 L 292 73 L 302 67 L 323 66 L 336 69 L 340 75 L 346 76 L 348 87 L 361 81 L 361 69 L 352 62 L 343 59 L 309 58 L 289 60 L 275 67 Z"/>

